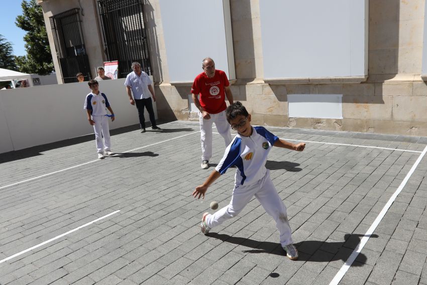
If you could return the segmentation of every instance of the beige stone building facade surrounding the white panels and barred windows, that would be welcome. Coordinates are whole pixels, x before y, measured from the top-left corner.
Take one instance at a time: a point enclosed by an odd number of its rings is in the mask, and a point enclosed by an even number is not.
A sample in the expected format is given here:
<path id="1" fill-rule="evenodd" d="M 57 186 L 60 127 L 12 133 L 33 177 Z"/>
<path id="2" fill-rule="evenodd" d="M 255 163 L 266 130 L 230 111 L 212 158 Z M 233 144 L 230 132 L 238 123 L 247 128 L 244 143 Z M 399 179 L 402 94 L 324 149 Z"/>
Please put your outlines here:
<path id="1" fill-rule="evenodd" d="M 188 81 L 171 82 L 169 78 L 167 49 L 170 47 L 164 37 L 161 1 L 143 0 L 158 116 L 163 120 L 196 119 L 190 112 L 188 100 L 191 84 Z M 230 9 L 235 71 L 231 88 L 235 100 L 241 101 L 252 114 L 254 124 L 427 135 L 427 85 L 423 80 L 423 74 L 427 73 L 423 72 L 427 70 L 427 66 L 423 66 L 427 49 L 424 47 L 425 0 L 363 1 L 367 11 L 367 68 L 363 79 L 325 77 L 276 82 L 264 78 L 260 0 L 226 1 Z M 104 53 L 97 1 L 38 0 L 38 3 L 44 11 L 56 70 L 59 67 L 53 48 L 55 42 L 49 32 L 49 17 L 71 8 L 80 8 L 84 12 L 80 18 L 91 69 L 108 60 Z M 197 20 L 199 18 L 201 20 Z M 196 23 L 202 23 L 203 15 L 194 19 Z M 185 30 L 182 33 L 185 34 Z M 222 69 L 221 66 L 217 68 Z M 62 82 L 60 78 L 58 82 Z M 342 117 L 290 117 L 288 94 L 342 95 Z"/>

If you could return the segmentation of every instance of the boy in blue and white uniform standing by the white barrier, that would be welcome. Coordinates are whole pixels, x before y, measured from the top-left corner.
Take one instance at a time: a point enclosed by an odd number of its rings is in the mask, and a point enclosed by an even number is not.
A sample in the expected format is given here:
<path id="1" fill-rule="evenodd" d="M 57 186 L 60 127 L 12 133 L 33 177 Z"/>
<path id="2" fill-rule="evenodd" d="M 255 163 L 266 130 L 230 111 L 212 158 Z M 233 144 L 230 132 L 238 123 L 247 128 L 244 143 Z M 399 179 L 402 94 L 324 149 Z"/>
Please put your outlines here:
<path id="1" fill-rule="evenodd" d="M 108 117 L 111 117 L 111 120 L 114 121 L 114 112 L 105 94 L 99 91 L 98 81 L 92 79 L 89 80 L 87 84 L 92 92 L 86 95 L 83 109 L 87 111 L 87 119 L 89 124 L 93 125 L 93 129 L 95 131 L 98 159 L 103 159 L 104 154 L 113 155 L 110 145 Z M 109 109 L 111 115 L 107 114 L 106 109 Z"/>

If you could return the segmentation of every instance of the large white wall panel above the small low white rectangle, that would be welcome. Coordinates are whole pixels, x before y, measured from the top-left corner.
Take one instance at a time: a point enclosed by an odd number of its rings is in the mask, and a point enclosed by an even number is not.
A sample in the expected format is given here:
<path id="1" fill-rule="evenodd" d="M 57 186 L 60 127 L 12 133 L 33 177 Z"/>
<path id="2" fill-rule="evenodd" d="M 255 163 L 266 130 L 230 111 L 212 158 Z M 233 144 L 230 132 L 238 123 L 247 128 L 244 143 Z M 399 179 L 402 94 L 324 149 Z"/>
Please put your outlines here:
<path id="1" fill-rule="evenodd" d="M 367 0 L 260 1 L 264 78 L 367 75 Z"/>

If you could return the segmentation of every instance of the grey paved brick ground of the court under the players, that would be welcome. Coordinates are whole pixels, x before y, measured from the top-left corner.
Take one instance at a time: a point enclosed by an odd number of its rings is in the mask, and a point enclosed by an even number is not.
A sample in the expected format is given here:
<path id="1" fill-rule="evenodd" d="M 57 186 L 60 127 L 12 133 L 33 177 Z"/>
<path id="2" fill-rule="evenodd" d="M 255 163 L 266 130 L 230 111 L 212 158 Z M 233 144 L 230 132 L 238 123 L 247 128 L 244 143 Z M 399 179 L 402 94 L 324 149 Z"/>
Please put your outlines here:
<path id="1" fill-rule="evenodd" d="M 267 162 L 300 252 L 291 261 L 256 199 L 200 233 L 209 202 L 225 206 L 232 192 L 234 170 L 204 202 L 191 196 L 221 159 L 223 139 L 214 135 L 206 171 L 197 123 L 161 127 L 113 131 L 118 155 L 105 160 L 96 160 L 93 136 L 0 155 L 0 259 L 120 210 L 0 263 L 0 284 L 329 284 L 420 153 L 324 143 L 427 145 L 425 137 L 269 128 L 323 142 L 302 153 L 273 148 Z M 427 285 L 426 171 L 423 158 L 340 284 Z"/>

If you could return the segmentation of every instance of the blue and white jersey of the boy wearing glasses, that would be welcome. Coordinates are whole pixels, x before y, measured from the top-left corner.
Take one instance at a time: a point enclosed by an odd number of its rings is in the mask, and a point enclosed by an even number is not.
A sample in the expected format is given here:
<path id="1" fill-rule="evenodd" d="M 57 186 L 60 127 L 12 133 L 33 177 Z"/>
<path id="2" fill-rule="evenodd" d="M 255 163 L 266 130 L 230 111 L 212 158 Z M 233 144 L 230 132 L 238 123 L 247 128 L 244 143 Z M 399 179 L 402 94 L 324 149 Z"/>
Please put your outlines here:
<path id="1" fill-rule="evenodd" d="M 264 177 L 265 163 L 273 144 L 279 138 L 262 126 L 252 126 L 252 134 L 239 133 L 227 147 L 223 159 L 215 168 L 220 174 L 226 173 L 233 165 L 237 167 L 235 184 L 250 185 Z"/>

